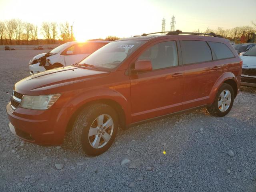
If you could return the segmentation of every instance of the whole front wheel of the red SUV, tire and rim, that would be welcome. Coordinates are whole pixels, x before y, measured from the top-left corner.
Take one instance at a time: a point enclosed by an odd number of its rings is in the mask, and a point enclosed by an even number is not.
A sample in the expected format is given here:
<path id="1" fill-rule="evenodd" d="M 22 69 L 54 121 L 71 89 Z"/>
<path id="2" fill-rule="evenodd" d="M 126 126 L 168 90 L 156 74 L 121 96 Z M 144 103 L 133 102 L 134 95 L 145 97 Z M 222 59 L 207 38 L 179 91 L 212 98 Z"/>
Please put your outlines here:
<path id="1" fill-rule="evenodd" d="M 116 111 L 106 104 L 93 104 L 78 114 L 72 130 L 72 142 L 76 149 L 88 156 L 96 156 L 110 148 L 117 131 Z"/>

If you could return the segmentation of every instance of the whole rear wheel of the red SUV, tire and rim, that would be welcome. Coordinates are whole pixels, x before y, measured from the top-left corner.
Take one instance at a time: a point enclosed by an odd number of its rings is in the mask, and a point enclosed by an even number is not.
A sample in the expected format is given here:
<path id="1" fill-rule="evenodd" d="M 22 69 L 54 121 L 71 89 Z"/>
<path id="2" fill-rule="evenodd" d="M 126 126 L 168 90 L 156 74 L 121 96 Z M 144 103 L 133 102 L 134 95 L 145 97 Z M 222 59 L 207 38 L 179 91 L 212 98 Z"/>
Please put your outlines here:
<path id="1" fill-rule="evenodd" d="M 223 117 L 230 112 L 234 102 L 234 90 L 229 84 L 220 86 L 214 102 L 207 108 L 208 112 L 214 116 Z"/>

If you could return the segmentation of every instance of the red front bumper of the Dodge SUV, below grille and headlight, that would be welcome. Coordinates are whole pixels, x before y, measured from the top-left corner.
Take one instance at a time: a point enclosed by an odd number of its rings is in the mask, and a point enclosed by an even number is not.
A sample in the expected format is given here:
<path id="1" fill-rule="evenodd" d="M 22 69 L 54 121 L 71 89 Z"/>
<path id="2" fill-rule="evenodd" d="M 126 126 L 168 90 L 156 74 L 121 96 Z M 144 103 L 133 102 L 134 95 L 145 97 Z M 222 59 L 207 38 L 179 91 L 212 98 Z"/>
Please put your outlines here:
<path id="1" fill-rule="evenodd" d="M 10 130 L 18 138 L 38 145 L 56 146 L 63 142 L 68 117 L 68 108 L 52 110 L 12 110 L 10 102 L 6 112 Z"/>

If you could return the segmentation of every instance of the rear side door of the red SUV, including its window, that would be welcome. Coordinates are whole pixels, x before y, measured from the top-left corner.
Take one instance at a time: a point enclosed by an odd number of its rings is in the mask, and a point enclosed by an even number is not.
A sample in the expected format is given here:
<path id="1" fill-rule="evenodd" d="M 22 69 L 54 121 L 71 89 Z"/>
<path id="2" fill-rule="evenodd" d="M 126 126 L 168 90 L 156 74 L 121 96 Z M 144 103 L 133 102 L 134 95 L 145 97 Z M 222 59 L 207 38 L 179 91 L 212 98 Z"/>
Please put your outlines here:
<path id="1" fill-rule="evenodd" d="M 182 39 L 182 62 L 185 68 L 185 85 L 182 109 L 208 103 L 209 94 L 222 68 L 212 62 L 210 46 L 203 39 Z"/>

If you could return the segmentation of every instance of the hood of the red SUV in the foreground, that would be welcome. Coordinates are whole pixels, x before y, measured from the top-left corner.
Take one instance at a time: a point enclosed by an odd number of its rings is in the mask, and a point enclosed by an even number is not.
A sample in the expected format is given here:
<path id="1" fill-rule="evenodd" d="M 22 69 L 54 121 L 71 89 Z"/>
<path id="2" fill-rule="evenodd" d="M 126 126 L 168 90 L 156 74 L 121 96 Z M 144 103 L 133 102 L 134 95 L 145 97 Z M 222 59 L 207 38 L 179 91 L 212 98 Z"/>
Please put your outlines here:
<path id="1" fill-rule="evenodd" d="M 28 76 L 17 82 L 14 90 L 21 94 L 51 94 L 51 90 L 67 84 L 99 78 L 110 72 L 88 70 L 75 66 L 55 68 Z"/>

